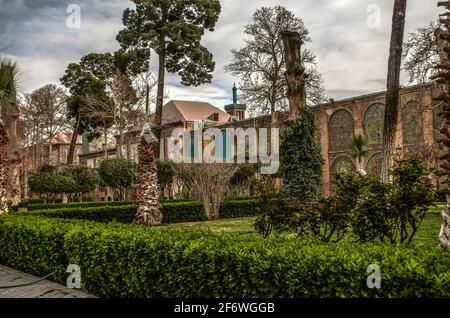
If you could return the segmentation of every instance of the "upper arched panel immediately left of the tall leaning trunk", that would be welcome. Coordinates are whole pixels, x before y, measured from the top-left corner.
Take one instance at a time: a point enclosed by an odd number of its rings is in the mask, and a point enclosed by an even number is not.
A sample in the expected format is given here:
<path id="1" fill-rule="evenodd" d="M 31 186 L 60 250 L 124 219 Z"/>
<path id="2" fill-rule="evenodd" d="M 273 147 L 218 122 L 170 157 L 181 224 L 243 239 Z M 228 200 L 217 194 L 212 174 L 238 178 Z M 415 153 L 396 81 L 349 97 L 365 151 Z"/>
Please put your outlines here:
<path id="1" fill-rule="evenodd" d="M 367 107 L 364 113 L 364 133 L 369 145 L 383 143 L 384 104 L 375 103 Z"/>

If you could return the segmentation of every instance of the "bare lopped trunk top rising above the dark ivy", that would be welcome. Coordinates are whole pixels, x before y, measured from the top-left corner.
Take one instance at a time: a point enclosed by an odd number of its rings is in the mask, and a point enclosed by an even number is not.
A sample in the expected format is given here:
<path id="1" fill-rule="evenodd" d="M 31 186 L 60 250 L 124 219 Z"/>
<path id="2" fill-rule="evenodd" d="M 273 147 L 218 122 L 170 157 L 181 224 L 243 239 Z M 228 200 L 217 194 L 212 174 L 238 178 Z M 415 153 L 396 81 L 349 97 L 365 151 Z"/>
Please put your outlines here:
<path id="1" fill-rule="evenodd" d="M 281 32 L 286 62 L 287 97 L 289 99 L 289 119 L 297 120 L 300 108 L 306 105 L 305 68 L 302 65 L 302 40 L 297 32 Z"/>

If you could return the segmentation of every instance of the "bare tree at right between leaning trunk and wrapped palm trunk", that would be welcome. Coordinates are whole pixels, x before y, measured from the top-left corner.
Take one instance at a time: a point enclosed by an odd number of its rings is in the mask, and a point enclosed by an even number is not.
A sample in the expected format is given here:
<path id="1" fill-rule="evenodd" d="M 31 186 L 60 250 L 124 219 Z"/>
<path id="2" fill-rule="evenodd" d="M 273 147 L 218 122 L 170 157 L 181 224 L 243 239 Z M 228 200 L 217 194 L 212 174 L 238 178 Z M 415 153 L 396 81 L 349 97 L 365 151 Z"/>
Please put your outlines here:
<path id="1" fill-rule="evenodd" d="M 422 84 L 437 74 L 435 68 L 439 63 L 439 53 L 436 44 L 435 32 L 437 23 L 431 22 L 428 26 L 418 28 L 409 34 L 403 45 L 403 70 L 408 75 L 409 83 Z"/>

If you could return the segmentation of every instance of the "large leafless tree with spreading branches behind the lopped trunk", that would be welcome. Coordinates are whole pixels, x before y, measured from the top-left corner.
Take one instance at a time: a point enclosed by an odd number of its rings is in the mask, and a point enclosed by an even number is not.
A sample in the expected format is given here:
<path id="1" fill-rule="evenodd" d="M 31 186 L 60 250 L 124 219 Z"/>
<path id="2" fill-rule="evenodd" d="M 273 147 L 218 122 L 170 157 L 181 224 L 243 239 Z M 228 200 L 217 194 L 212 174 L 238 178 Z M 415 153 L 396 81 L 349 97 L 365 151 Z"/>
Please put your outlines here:
<path id="1" fill-rule="evenodd" d="M 253 15 L 253 22 L 245 27 L 245 46 L 232 50 L 233 61 L 225 67 L 240 79 L 242 98 L 254 115 L 275 114 L 286 110 L 286 64 L 282 31 L 297 32 L 302 42 L 310 42 L 303 21 L 282 6 L 263 7 Z M 306 69 L 306 92 L 309 105 L 325 100 L 322 75 L 317 71 L 315 55 L 303 49 L 302 63 Z"/>

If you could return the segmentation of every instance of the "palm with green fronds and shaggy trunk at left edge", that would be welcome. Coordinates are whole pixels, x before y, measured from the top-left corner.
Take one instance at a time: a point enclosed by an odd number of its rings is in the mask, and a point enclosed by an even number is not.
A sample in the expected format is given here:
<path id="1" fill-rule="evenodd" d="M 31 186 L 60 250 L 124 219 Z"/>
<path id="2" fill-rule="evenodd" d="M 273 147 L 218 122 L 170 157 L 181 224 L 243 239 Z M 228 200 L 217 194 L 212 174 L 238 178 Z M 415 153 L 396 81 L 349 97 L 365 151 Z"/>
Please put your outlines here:
<path id="1" fill-rule="evenodd" d="M 17 91 L 17 67 L 12 61 L 0 57 L 0 110 L 3 115 L 5 107 L 15 99 Z M 2 116 L 4 118 L 4 116 Z M 9 165 L 8 136 L 4 123 L 0 120 L 0 214 L 8 213 Z"/>

